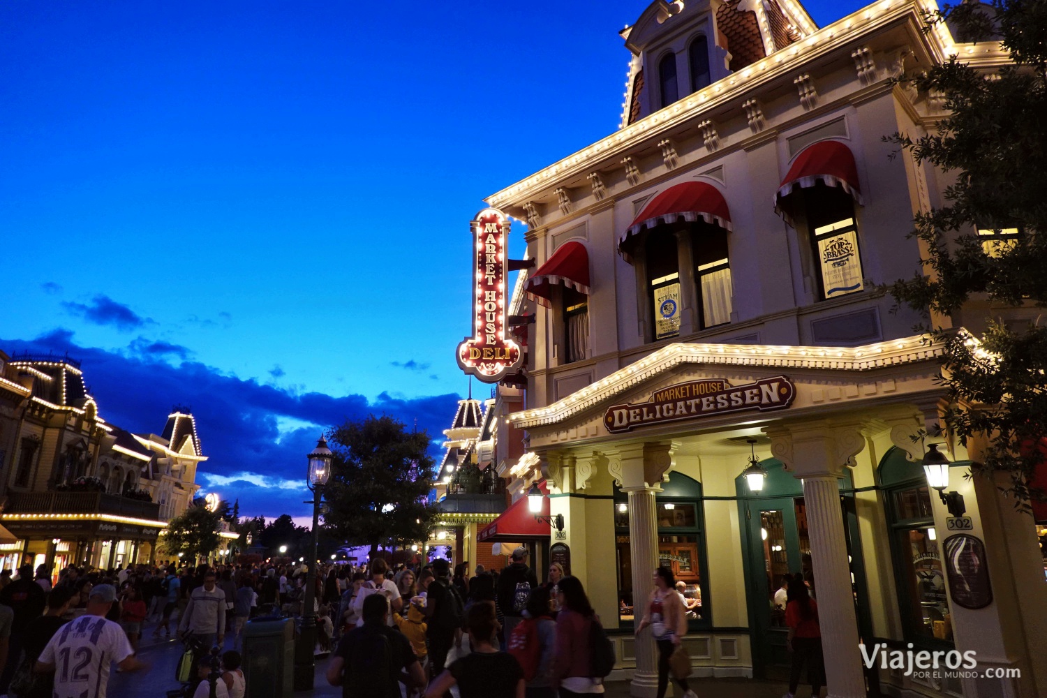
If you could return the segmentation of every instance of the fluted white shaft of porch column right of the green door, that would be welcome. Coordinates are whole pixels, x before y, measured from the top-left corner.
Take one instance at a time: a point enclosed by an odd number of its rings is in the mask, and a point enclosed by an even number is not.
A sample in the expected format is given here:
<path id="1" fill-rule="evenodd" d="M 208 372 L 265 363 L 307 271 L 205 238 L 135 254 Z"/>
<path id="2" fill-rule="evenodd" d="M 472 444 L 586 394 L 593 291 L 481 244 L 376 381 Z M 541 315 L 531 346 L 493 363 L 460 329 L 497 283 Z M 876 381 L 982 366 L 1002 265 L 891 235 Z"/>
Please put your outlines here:
<path id="1" fill-rule="evenodd" d="M 818 621 L 829 698 L 865 698 L 854 595 L 844 538 L 840 485 L 836 475 L 805 476 L 810 561 L 815 567 Z"/>

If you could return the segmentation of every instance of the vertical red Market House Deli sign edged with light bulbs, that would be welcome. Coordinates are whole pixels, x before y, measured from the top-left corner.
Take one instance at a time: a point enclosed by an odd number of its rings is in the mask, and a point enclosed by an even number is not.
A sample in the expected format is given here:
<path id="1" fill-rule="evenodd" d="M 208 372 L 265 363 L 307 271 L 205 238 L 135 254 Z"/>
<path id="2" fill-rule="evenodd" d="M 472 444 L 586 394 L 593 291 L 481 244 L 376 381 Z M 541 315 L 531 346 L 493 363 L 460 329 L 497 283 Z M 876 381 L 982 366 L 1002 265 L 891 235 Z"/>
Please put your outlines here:
<path id="1" fill-rule="evenodd" d="M 458 362 L 485 383 L 497 383 L 524 360 L 519 344 L 506 339 L 506 247 L 510 223 L 496 208 L 471 222 L 473 256 L 473 334 L 458 347 Z"/>

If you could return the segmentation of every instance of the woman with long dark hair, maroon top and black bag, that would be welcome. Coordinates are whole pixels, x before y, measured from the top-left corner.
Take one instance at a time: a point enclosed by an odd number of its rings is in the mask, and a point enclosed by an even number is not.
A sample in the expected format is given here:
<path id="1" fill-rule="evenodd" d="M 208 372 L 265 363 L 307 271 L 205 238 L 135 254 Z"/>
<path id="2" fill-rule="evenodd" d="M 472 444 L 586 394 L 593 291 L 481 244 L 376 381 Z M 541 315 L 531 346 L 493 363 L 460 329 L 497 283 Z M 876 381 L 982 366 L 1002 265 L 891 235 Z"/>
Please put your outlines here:
<path id="1" fill-rule="evenodd" d="M 603 679 L 615 666 L 615 648 L 600 626 L 577 577 L 564 577 L 556 614 L 556 655 L 552 685 L 560 698 L 602 694 Z"/>

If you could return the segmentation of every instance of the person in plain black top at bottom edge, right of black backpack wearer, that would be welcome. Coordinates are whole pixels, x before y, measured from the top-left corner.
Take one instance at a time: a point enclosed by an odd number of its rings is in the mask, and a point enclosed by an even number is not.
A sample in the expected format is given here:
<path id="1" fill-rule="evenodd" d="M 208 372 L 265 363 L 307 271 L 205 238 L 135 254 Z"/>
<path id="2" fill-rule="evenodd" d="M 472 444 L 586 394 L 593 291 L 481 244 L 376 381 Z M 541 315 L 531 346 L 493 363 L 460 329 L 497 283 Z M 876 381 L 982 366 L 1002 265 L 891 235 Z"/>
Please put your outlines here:
<path id="1" fill-rule="evenodd" d="M 448 695 L 455 684 L 462 698 L 525 698 L 519 663 L 493 643 L 497 625 L 491 602 L 480 602 L 469 608 L 466 629 L 472 652 L 452 661 L 429 686 L 425 698 Z"/>

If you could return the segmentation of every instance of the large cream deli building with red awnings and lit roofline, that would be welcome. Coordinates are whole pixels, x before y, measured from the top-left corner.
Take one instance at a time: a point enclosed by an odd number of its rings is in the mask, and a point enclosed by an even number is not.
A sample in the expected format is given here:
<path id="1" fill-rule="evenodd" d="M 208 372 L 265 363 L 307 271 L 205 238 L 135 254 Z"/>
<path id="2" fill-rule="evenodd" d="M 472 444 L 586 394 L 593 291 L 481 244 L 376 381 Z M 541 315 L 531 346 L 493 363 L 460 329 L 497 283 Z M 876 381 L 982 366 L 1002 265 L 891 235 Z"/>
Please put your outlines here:
<path id="1" fill-rule="evenodd" d="M 944 408 L 939 348 L 877 290 L 920 271 L 906 232 L 950 181 L 883 141 L 942 115 L 892 78 L 1008 61 L 926 32 L 933 8 L 883 0 L 817 27 L 795 0 L 658 0 L 621 32 L 620 130 L 486 200 L 527 222 L 535 261 L 508 322 L 525 367 L 494 406 L 527 451 L 499 441 L 495 467 L 514 502 L 539 485 L 562 514 L 633 695 L 655 692 L 632 628 L 660 564 L 697 602 L 699 676 L 785 675 L 775 591 L 799 573 L 830 696 L 1047 695 L 1033 521 L 964 477 L 983 444 L 921 438 Z M 980 332 L 988 314 L 935 321 Z M 938 492 L 932 442 L 953 463 Z M 999 675 L 866 671 L 860 643 L 973 651 Z"/>

